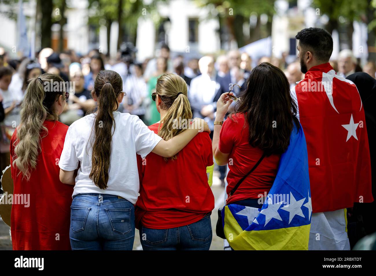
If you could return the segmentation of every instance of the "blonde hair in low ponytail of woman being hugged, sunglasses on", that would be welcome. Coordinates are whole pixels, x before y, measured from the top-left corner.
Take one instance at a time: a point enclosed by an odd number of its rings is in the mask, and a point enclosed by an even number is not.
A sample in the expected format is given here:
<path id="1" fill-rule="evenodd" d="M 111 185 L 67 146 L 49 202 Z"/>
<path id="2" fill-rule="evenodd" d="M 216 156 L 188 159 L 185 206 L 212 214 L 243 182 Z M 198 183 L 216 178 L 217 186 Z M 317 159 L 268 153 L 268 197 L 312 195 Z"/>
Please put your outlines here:
<path id="1" fill-rule="evenodd" d="M 180 126 L 176 127 L 176 122 L 192 119 L 187 85 L 177 74 L 164 74 L 157 80 L 156 94 L 161 98 L 161 109 L 167 110 L 159 124 L 158 135 L 167 141 L 185 130 Z M 172 157 L 172 159 L 176 158 L 176 155 Z"/>

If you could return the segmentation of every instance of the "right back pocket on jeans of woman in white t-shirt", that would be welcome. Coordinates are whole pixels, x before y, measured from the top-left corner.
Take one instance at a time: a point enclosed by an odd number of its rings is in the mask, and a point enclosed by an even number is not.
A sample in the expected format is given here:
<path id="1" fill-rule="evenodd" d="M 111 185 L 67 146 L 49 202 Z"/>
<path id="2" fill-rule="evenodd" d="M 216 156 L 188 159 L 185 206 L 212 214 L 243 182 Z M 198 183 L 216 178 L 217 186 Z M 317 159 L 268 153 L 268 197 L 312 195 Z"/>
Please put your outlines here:
<path id="1" fill-rule="evenodd" d="M 106 208 L 105 210 L 111 222 L 112 231 L 121 235 L 130 232 L 131 208 Z"/>

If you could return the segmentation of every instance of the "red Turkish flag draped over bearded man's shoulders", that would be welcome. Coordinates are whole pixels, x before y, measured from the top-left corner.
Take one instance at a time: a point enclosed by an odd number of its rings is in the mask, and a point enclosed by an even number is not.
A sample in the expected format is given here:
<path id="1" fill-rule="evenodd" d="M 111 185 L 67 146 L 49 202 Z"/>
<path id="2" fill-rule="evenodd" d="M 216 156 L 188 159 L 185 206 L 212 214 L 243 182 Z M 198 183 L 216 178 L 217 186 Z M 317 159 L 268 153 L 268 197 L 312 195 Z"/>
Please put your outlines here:
<path id="1" fill-rule="evenodd" d="M 324 63 L 309 69 L 295 92 L 307 141 L 313 212 L 372 202 L 367 128 L 355 84 Z"/>

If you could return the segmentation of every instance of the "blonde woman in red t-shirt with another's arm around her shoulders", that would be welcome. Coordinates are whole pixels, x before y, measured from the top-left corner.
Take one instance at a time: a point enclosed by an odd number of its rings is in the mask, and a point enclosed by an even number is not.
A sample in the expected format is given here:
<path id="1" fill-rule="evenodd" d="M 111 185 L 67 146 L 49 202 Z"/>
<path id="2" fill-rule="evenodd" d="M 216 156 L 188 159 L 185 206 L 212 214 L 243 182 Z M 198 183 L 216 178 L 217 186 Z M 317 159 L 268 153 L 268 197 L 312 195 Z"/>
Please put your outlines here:
<path id="1" fill-rule="evenodd" d="M 152 96 L 161 121 L 150 130 L 170 140 L 190 127 L 192 112 L 183 78 L 162 75 Z M 171 158 L 153 153 L 144 160 L 138 158 L 141 186 L 135 216 L 144 250 L 209 250 L 213 167 L 206 132 Z"/>

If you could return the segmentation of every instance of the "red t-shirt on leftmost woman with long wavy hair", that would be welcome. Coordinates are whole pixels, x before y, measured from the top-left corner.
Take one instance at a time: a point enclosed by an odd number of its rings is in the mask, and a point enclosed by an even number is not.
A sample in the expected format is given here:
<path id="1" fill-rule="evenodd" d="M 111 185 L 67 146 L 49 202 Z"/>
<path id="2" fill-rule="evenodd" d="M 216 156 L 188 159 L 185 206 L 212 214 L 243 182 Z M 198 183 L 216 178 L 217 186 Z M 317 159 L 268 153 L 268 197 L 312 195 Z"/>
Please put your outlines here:
<path id="1" fill-rule="evenodd" d="M 47 136 L 41 139 L 41 151 L 30 180 L 16 166 L 11 166 L 14 195 L 29 195 L 27 204 L 13 204 L 11 235 L 13 250 L 70 250 L 70 205 L 73 186 L 59 180 L 59 158 L 68 126 L 58 121 L 45 121 Z M 11 139 L 11 164 L 14 156 Z M 24 202 L 25 203 L 25 202 Z M 25 206 L 26 205 L 26 206 Z"/>

